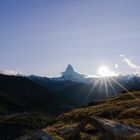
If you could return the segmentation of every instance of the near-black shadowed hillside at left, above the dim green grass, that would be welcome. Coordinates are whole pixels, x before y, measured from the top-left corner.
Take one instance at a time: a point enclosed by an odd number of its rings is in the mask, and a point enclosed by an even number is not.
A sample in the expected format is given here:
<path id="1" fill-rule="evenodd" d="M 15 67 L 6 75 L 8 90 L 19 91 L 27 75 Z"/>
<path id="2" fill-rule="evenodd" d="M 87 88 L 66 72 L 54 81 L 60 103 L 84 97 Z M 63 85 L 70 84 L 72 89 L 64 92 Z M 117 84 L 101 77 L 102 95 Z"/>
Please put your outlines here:
<path id="1" fill-rule="evenodd" d="M 0 115 L 23 111 L 57 114 L 60 102 L 56 94 L 26 77 L 0 75 Z"/>

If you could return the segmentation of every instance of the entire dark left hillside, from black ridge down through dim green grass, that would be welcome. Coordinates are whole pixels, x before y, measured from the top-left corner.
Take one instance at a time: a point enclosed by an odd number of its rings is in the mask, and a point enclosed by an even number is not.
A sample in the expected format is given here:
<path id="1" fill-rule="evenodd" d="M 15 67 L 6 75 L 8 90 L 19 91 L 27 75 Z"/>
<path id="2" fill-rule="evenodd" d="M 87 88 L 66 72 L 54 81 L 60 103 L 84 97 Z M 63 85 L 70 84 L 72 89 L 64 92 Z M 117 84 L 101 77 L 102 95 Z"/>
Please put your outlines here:
<path id="1" fill-rule="evenodd" d="M 46 87 L 26 77 L 0 74 L 0 139 L 41 129 L 66 110 L 65 101 Z"/>

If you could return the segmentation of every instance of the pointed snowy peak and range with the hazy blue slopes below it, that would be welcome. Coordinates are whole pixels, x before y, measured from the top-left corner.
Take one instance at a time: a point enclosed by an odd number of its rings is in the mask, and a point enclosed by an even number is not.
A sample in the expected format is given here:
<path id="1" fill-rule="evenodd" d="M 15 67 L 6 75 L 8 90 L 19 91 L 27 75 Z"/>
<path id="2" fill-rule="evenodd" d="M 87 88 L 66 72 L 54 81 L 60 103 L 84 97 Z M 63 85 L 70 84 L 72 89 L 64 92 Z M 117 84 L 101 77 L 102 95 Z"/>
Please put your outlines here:
<path id="1" fill-rule="evenodd" d="M 84 75 L 75 72 L 71 65 L 68 65 L 61 77 L 47 78 L 31 75 L 28 78 L 47 87 L 60 98 L 67 100 L 71 108 L 126 91 L 140 90 L 139 75 L 86 78 Z"/>

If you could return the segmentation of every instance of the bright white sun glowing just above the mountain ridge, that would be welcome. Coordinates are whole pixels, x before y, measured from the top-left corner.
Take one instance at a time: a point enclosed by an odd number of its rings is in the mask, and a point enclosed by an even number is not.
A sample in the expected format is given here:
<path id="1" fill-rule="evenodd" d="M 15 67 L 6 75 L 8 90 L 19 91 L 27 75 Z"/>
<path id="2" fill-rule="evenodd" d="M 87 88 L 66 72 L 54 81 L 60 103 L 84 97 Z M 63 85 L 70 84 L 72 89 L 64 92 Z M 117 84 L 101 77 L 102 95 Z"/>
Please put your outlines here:
<path id="1" fill-rule="evenodd" d="M 111 71 L 107 66 L 101 66 L 97 70 L 97 74 L 100 77 L 111 77 L 116 76 L 116 73 L 114 71 Z"/>

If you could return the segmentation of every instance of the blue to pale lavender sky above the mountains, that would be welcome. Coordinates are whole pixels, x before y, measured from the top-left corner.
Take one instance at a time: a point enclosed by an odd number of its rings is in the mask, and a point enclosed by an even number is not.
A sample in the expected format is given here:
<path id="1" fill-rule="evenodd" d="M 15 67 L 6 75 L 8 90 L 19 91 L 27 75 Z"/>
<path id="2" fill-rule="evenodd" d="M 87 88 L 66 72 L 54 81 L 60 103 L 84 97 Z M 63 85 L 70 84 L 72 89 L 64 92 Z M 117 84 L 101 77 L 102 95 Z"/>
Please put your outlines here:
<path id="1" fill-rule="evenodd" d="M 140 0 L 0 0 L 0 70 L 140 71 Z"/>

